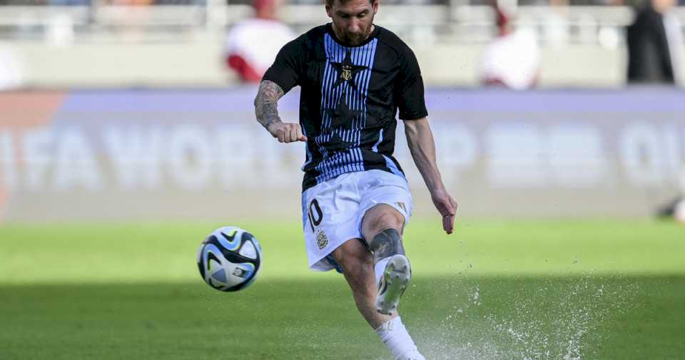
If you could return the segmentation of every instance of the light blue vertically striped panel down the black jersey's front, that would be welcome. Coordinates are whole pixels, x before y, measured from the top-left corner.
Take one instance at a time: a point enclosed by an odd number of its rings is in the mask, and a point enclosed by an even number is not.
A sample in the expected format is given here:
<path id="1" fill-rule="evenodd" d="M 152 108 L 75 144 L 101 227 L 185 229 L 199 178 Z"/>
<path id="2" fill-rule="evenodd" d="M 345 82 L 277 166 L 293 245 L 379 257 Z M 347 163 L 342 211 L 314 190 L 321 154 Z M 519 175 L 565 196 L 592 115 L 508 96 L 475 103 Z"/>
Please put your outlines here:
<path id="1" fill-rule="evenodd" d="M 323 155 L 323 160 L 315 166 L 319 173 L 316 176 L 317 184 L 346 172 L 364 170 L 364 160 L 359 145 L 361 143 L 361 132 L 366 124 L 367 92 L 377 44 L 378 39 L 372 39 L 372 41 L 369 41 L 364 46 L 350 48 L 336 43 L 329 34 L 324 35 L 326 66 L 323 73 L 323 81 L 321 82 L 321 134 L 314 139 L 314 143 Z M 357 88 L 356 90 L 347 84 L 347 81 L 338 83 L 338 86 L 334 87 L 340 74 L 338 74 L 338 71 L 331 63 L 342 63 L 348 51 L 350 52 L 352 64 L 367 68 L 355 74 L 353 81 Z M 343 95 L 345 95 L 344 99 L 342 99 Z M 328 111 L 335 109 L 340 101 L 344 101 L 350 111 L 359 112 L 352 119 L 350 129 L 347 130 L 331 129 L 332 119 L 330 119 Z M 352 143 L 352 148 L 347 151 L 329 154 L 324 144 L 330 141 L 332 134 L 334 134 L 333 131 L 340 136 L 342 141 Z"/>

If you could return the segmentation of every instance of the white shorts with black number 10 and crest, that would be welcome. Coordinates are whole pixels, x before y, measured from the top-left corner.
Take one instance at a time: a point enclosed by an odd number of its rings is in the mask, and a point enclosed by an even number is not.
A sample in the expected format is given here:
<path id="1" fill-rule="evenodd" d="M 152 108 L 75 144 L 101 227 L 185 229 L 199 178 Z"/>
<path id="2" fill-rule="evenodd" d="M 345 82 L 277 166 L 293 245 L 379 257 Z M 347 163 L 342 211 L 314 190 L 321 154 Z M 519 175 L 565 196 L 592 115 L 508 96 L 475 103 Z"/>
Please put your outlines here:
<path id="1" fill-rule="evenodd" d="M 350 239 L 362 239 L 362 219 L 377 204 L 387 204 L 405 217 L 412 215 L 407 180 L 382 170 L 356 171 L 316 184 L 302 194 L 302 222 L 309 268 L 337 268 L 333 250 Z M 338 269 L 340 270 L 340 269 Z"/>

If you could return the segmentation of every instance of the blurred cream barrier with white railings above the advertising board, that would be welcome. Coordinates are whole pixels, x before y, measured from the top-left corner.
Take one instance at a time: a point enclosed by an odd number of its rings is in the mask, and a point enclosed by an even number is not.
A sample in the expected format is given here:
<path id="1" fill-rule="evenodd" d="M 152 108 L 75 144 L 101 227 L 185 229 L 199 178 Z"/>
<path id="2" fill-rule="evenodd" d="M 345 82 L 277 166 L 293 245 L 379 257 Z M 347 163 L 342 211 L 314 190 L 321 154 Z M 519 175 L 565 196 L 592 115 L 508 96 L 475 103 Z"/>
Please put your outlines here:
<path id="1" fill-rule="evenodd" d="M 479 86 L 485 46 L 497 34 L 492 7 L 439 2 L 384 3 L 375 21 L 412 47 L 427 85 Z M 297 33 L 330 21 L 323 6 L 313 3 L 285 5 L 280 15 Z M 225 1 L 193 4 L 0 6 L 0 51 L 10 54 L 18 74 L 11 86 L 173 89 L 239 84 L 223 59 L 225 31 L 248 18 L 252 9 Z M 674 14 L 685 24 L 685 6 Z M 630 6 L 518 6 L 512 25 L 536 34 L 538 86 L 619 88 L 626 81 L 625 26 L 633 19 Z M 679 84 L 685 84 L 685 75 L 680 75 Z"/>

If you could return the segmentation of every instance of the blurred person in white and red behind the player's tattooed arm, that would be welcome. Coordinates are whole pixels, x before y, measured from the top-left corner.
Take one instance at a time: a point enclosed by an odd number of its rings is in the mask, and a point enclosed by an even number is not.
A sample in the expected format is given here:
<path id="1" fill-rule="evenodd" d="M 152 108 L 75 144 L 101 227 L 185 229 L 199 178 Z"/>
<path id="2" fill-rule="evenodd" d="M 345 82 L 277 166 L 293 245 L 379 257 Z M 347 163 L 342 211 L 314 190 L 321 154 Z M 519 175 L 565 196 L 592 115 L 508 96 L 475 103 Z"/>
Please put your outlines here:
<path id="1" fill-rule="evenodd" d="M 297 34 L 276 19 L 281 0 L 254 0 L 255 15 L 233 26 L 225 41 L 225 61 L 243 82 L 258 83 L 276 54 Z"/>

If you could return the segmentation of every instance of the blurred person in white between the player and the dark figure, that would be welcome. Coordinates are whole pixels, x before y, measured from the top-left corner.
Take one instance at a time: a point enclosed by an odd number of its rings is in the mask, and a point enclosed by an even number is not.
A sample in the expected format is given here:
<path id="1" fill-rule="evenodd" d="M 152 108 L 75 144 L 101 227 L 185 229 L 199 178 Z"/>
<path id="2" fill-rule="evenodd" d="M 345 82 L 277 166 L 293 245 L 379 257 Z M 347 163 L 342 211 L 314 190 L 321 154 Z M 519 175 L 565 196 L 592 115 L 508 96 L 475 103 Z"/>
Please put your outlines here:
<path id="1" fill-rule="evenodd" d="M 499 34 L 484 51 L 480 66 L 483 85 L 509 89 L 530 89 L 537 84 L 540 59 L 537 40 L 532 31 L 513 31 L 509 17 L 493 4 L 497 13 Z"/>

